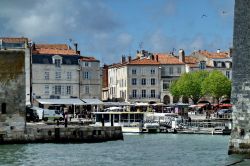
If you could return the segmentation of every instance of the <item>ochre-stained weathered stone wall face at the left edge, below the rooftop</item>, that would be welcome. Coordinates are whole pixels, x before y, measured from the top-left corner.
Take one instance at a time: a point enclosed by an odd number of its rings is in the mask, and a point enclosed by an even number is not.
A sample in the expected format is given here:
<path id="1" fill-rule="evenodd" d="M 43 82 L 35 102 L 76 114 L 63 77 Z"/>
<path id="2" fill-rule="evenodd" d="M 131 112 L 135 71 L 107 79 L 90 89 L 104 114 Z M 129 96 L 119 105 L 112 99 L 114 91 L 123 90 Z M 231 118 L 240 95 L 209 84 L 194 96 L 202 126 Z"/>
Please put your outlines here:
<path id="1" fill-rule="evenodd" d="M 25 52 L 0 51 L 0 139 L 25 129 Z"/>

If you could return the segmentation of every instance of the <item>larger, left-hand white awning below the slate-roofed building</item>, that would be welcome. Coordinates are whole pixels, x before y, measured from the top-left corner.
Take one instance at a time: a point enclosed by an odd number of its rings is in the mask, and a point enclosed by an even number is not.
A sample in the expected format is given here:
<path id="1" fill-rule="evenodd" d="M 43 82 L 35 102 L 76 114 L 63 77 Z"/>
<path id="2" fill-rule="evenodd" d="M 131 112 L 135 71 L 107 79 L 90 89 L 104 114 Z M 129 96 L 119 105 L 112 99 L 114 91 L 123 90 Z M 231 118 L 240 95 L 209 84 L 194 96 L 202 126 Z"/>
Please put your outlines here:
<path id="1" fill-rule="evenodd" d="M 36 99 L 41 104 L 86 105 L 80 99 Z"/>

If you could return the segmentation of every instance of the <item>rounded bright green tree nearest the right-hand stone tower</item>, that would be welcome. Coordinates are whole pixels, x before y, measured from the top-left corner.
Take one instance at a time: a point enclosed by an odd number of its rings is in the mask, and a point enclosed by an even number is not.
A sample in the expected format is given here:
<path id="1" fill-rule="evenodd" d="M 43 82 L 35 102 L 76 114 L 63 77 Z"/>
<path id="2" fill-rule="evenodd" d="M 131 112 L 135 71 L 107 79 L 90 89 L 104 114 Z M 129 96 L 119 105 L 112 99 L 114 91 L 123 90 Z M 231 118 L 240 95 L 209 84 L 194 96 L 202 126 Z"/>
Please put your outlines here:
<path id="1" fill-rule="evenodd" d="M 213 70 L 202 83 L 202 93 L 219 102 L 223 96 L 230 97 L 231 81 L 221 71 Z"/>

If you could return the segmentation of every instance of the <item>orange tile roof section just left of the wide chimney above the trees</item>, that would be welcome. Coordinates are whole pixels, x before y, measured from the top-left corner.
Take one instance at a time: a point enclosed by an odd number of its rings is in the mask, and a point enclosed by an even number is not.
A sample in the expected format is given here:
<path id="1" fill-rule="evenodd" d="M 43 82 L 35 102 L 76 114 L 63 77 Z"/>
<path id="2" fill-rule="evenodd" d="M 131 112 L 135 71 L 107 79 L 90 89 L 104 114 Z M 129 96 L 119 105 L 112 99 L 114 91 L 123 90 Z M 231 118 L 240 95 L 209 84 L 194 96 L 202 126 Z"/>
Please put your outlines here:
<path id="1" fill-rule="evenodd" d="M 156 59 L 158 56 L 158 60 L 161 64 L 170 64 L 170 65 L 184 65 L 183 62 L 179 61 L 178 58 L 165 54 L 165 53 L 157 53 L 154 54 L 154 58 Z"/>

